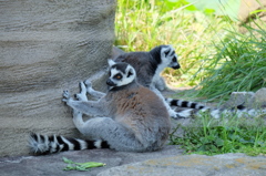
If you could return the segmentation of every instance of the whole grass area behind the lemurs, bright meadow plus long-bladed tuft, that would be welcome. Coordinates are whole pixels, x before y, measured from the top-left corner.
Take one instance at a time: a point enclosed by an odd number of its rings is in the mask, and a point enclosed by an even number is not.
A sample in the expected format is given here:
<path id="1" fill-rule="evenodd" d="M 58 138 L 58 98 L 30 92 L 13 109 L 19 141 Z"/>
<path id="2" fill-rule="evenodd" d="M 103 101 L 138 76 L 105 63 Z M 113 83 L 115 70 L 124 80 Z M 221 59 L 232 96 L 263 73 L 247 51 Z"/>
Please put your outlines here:
<path id="1" fill-rule="evenodd" d="M 242 34 L 226 15 L 196 10 L 184 0 L 117 0 L 115 45 L 125 51 L 149 51 L 172 44 L 182 69 L 166 69 L 166 82 L 200 90 L 186 92 L 183 99 L 226 100 L 231 92 L 265 86 L 263 25 L 258 30 L 247 27 L 248 33 Z"/>

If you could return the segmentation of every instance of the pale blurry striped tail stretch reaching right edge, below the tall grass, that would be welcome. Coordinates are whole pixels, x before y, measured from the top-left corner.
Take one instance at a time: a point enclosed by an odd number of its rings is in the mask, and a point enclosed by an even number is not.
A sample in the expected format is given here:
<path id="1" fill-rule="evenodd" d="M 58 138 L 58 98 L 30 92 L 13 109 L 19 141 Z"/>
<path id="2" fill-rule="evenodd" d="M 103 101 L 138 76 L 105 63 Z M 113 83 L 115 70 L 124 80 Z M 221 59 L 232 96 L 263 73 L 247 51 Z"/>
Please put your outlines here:
<path id="1" fill-rule="evenodd" d="M 204 107 L 202 110 L 181 110 L 177 111 L 176 114 L 178 117 L 192 117 L 195 115 L 202 115 L 202 113 L 208 113 L 214 118 L 219 118 L 222 116 L 226 115 L 236 115 L 238 117 L 252 117 L 252 116 L 258 116 L 258 115 L 265 115 L 266 116 L 266 110 L 255 110 L 255 108 L 211 108 L 211 107 Z"/>

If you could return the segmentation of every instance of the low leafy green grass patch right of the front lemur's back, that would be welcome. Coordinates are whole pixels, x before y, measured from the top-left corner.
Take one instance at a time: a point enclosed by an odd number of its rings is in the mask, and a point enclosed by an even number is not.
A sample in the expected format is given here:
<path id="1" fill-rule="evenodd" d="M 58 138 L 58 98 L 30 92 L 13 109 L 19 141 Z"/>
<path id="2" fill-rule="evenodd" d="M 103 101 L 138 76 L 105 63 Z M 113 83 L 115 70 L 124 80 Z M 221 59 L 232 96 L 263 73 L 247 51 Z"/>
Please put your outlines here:
<path id="1" fill-rule="evenodd" d="M 188 154 L 245 153 L 266 155 L 266 123 L 263 118 L 195 118 L 183 128 L 182 136 L 171 134 L 171 144 L 181 145 Z"/>

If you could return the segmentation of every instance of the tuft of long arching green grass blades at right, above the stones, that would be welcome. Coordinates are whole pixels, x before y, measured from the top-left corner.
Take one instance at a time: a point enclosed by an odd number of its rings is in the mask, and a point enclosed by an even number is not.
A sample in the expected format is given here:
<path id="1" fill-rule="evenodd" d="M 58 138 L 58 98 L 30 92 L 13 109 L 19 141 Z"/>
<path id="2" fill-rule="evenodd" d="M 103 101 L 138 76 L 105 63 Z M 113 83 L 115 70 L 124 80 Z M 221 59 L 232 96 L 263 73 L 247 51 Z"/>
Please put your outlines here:
<path id="1" fill-rule="evenodd" d="M 196 93 L 188 92 L 187 96 L 221 101 L 232 92 L 256 92 L 266 85 L 266 30 L 246 29 L 246 34 L 229 32 L 214 44 L 217 53 L 206 59 L 212 62 L 200 68 L 195 76 L 203 81 L 195 87 Z"/>

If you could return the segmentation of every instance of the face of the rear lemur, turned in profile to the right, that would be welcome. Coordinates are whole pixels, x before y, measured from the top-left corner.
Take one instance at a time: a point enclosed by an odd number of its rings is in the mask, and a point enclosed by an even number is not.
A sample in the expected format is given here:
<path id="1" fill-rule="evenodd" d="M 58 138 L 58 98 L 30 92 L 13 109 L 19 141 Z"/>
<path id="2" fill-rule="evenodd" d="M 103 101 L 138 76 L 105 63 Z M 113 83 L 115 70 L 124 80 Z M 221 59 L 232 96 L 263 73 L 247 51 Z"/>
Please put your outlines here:
<path id="1" fill-rule="evenodd" d="M 165 68 L 180 69 L 180 63 L 177 62 L 177 55 L 172 45 L 163 45 L 161 49 L 161 60 Z"/>

